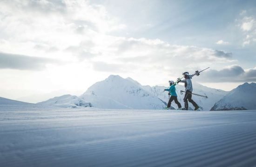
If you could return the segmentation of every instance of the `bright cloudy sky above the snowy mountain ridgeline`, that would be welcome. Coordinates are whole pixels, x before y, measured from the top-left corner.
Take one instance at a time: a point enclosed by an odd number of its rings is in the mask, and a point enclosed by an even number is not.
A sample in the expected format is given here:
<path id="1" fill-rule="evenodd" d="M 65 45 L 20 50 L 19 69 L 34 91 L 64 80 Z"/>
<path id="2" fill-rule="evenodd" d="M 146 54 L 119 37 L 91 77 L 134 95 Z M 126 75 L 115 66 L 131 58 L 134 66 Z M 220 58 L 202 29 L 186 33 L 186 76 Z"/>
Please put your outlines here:
<path id="1" fill-rule="evenodd" d="M 142 85 L 256 82 L 255 0 L 0 0 L 0 96 L 81 95 L 109 75 Z"/>

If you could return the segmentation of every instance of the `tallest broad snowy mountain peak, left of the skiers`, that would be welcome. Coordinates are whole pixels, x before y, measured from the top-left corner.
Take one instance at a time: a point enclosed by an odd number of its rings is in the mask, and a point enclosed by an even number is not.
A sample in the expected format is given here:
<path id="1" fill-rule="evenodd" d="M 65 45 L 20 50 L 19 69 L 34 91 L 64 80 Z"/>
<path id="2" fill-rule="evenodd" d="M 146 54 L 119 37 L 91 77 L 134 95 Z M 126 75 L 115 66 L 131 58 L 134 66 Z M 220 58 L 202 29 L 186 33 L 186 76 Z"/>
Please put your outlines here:
<path id="1" fill-rule="evenodd" d="M 144 90 L 131 78 L 110 75 L 94 83 L 80 96 L 97 108 L 105 109 L 162 109 L 166 103 Z"/>

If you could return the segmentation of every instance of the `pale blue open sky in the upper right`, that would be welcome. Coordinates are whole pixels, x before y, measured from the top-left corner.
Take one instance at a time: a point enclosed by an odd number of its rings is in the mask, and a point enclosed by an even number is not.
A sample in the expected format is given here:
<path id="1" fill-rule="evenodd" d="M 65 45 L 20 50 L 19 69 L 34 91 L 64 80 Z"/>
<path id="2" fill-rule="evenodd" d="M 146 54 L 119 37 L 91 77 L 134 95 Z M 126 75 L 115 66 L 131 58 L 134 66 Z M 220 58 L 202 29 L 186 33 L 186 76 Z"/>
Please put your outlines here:
<path id="1" fill-rule="evenodd" d="M 237 28 L 237 19 L 243 18 L 243 11 L 246 11 L 244 15 L 255 17 L 254 0 L 97 2 L 103 3 L 109 7 L 110 13 L 129 23 L 132 30 L 120 32 L 121 36 L 161 39 L 176 45 L 195 45 L 231 51 L 234 58 L 239 59 L 245 67 L 255 65 L 253 61 L 256 61 L 256 45 L 242 47 L 243 32 Z M 133 31 L 134 27 L 140 27 L 141 23 L 151 26 Z M 230 45 L 217 45 L 216 41 L 220 39 L 229 41 Z M 243 55 L 248 55 L 248 58 L 244 58 Z"/>

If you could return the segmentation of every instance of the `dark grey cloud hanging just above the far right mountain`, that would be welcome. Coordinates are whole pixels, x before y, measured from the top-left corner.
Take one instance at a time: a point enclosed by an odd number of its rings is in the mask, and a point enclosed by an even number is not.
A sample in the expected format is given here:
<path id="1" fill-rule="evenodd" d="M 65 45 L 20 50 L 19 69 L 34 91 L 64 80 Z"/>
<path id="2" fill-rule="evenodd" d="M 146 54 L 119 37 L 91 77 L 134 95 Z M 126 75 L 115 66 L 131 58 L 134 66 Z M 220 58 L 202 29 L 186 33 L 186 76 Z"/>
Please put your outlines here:
<path id="1" fill-rule="evenodd" d="M 201 82 L 255 82 L 256 68 L 244 70 L 238 65 L 232 65 L 222 70 L 205 71 L 198 79 Z"/>

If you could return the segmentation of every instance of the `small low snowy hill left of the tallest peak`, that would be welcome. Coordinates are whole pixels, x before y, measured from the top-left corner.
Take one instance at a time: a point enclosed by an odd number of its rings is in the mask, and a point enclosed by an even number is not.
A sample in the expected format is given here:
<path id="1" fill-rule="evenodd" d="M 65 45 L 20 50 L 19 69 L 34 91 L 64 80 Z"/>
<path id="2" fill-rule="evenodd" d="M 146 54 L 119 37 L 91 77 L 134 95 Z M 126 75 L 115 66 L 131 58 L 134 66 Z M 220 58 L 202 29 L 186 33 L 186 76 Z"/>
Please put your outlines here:
<path id="1" fill-rule="evenodd" d="M 47 105 L 47 106 L 56 106 L 56 107 L 71 107 L 71 108 L 92 107 L 91 103 L 88 103 L 77 96 L 71 96 L 71 95 L 54 97 L 47 101 L 40 102 L 37 104 Z"/>

